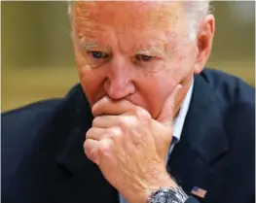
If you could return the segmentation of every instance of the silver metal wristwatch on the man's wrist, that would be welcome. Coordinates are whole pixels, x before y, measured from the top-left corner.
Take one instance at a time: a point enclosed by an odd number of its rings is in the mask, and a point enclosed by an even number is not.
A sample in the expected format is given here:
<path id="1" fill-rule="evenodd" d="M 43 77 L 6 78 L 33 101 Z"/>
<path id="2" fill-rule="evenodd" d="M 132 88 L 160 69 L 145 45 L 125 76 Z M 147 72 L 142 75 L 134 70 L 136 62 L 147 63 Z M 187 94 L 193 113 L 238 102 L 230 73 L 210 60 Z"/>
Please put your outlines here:
<path id="1" fill-rule="evenodd" d="M 148 198 L 148 203 L 185 203 L 188 195 L 180 186 L 161 187 L 152 192 Z"/>

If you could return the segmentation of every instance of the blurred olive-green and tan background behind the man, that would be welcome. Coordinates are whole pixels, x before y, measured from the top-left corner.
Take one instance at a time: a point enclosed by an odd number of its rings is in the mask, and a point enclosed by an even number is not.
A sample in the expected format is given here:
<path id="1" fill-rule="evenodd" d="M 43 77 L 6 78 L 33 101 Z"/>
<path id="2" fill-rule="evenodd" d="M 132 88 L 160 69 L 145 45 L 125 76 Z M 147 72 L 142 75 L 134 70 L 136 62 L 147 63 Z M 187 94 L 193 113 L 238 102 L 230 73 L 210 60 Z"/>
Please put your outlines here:
<path id="1" fill-rule="evenodd" d="M 255 2 L 213 2 L 207 66 L 255 85 Z M 78 83 L 66 2 L 1 2 L 2 112 L 62 97 Z"/>

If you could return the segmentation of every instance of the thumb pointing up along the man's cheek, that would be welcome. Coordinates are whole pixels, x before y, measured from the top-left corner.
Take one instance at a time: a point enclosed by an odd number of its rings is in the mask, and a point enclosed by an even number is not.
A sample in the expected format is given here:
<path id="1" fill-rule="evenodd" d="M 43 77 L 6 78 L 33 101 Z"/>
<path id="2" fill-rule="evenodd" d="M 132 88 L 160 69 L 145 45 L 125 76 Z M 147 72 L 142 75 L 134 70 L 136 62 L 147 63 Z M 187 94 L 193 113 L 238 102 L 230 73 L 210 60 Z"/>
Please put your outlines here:
<path id="1" fill-rule="evenodd" d="M 170 95 L 166 98 L 165 104 L 163 105 L 162 110 L 160 111 L 160 115 L 158 121 L 162 122 L 165 125 L 172 125 L 172 121 L 175 114 L 175 103 L 178 92 L 182 88 L 182 85 L 176 85 Z"/>

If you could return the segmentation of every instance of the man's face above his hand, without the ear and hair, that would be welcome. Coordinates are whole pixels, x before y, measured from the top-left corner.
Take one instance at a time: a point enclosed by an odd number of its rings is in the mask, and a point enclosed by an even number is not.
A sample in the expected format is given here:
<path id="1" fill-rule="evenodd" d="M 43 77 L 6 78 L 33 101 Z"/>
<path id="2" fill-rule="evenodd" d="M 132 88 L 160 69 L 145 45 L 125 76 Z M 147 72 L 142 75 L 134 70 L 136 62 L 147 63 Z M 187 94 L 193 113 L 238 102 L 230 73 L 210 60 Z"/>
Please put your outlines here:
<path id="1" fill-rule="evenodd" d="M 183 99 L 195 70 L 181 3 L 76 2 L 74 44 L 91 106 L 103 96 L 127 99 L 153 118 L 175 85 Z"/>

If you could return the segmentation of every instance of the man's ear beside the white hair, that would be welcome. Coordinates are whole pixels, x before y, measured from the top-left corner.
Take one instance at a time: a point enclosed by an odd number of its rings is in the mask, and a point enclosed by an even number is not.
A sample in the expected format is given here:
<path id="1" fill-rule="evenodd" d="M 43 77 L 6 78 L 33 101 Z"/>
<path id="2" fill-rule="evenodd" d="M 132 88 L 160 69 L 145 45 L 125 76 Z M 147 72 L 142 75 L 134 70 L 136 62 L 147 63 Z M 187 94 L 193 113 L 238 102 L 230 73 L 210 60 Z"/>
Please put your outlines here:
<path id="1" fill-rule="evenodd" d="M 197 60 L 195 63 L 194 73 L 201 73 L 204 65 L 206 64 L 215 32 L 215 18 L 212 15 L 208 15 L 201 20 L 197 38 Z"/>

